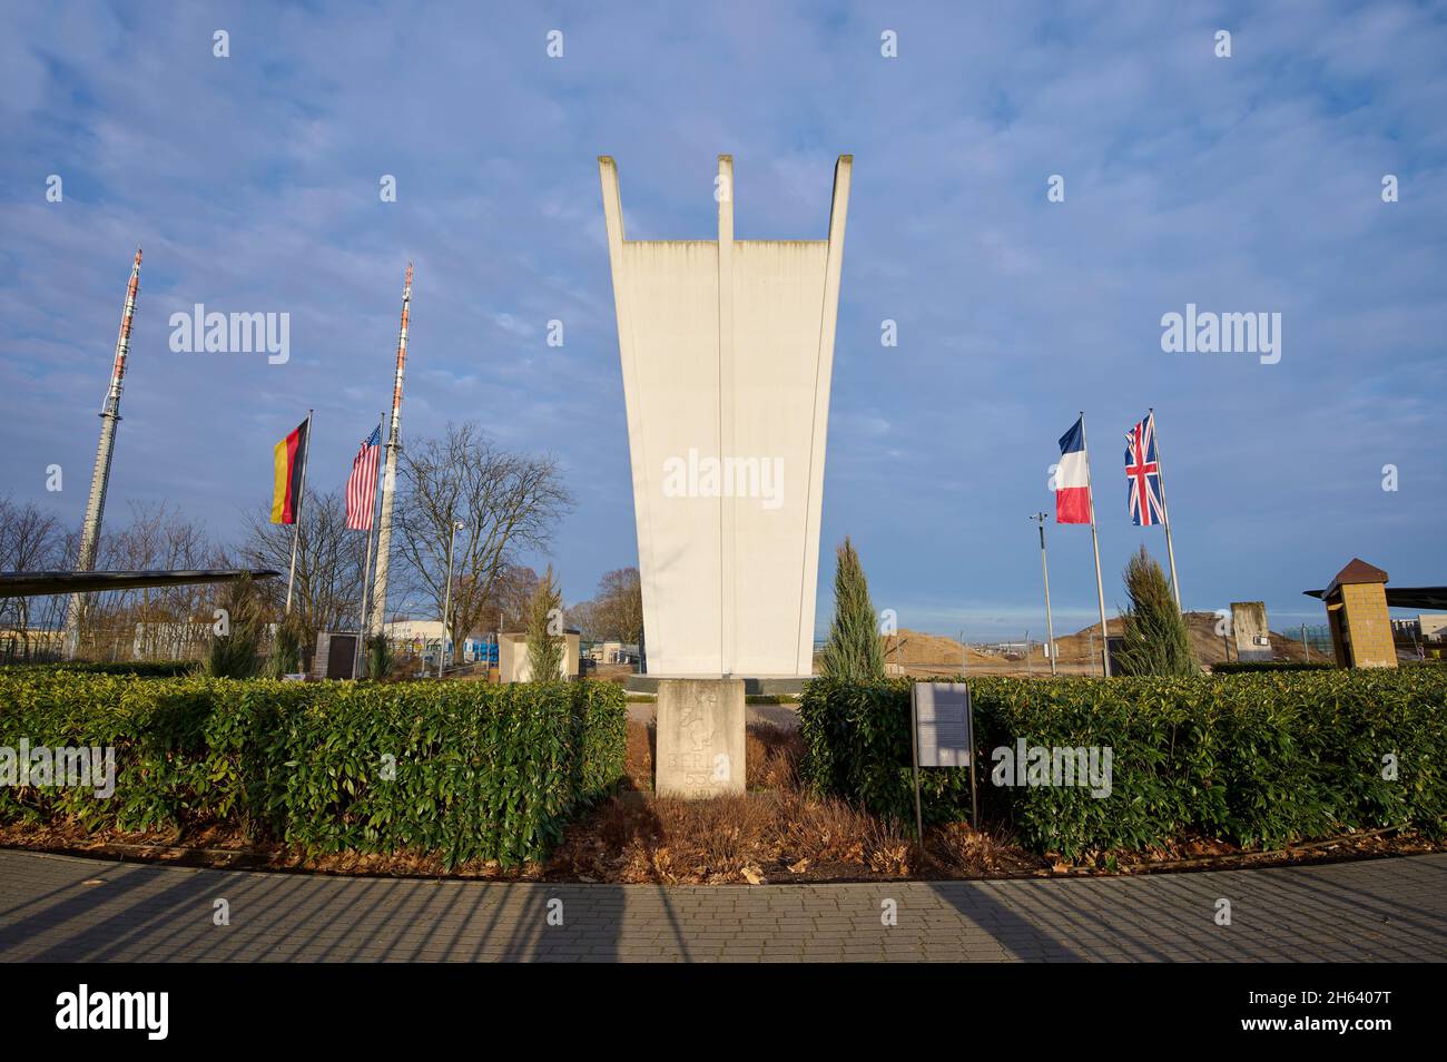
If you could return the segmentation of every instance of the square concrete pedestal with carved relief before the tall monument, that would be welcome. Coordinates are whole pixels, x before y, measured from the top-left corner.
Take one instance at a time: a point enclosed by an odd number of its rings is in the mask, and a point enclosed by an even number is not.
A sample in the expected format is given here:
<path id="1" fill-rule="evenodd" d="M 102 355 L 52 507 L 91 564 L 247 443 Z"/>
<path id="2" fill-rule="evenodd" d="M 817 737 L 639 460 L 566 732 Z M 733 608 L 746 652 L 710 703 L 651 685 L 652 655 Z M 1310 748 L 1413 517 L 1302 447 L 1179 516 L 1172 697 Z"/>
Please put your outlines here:
<path id="1" fill-rule="evenodd" d="M 744 793 L 744 680 L 660 680 L 654 791 L 725 796 Z"/>

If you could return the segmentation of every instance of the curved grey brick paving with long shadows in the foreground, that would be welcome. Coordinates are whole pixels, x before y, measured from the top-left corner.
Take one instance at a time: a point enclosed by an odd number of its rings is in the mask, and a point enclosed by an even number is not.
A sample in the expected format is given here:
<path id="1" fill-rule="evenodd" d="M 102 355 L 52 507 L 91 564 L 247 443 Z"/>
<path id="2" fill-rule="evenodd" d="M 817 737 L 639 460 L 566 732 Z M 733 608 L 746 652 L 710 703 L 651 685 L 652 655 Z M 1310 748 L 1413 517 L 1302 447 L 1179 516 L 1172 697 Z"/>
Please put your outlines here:
<path id="1" fill-rule="evenodd" d="M 218 899 L 229 926 L 213 923 Z M 1215 923 L 1220 899 L 1230 901 L 1230 926 Z M 548 923 L 556 900 L 561 926 Z M 670 888 L 185 870 L 0 851 L 0 961 L 26 959 L 1441 962 L 1447 854 L 1068 881 Z"/>

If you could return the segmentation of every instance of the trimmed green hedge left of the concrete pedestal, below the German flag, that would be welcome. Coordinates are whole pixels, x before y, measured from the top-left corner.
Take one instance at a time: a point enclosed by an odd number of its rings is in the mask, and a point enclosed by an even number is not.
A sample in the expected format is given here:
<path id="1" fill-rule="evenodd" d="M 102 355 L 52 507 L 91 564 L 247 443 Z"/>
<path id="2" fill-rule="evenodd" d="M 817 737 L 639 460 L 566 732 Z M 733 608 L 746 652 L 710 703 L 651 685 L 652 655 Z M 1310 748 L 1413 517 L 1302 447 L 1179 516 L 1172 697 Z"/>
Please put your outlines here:
<path id="1" fill-rule="evenodd" d="M 624 776 L 606 683 L 357 684 L 0 673 L 0 745 L 113 745 L 109 800 L 0 787 L 0 820 L 223 822 L 310 852 L 541 859 Z"/>

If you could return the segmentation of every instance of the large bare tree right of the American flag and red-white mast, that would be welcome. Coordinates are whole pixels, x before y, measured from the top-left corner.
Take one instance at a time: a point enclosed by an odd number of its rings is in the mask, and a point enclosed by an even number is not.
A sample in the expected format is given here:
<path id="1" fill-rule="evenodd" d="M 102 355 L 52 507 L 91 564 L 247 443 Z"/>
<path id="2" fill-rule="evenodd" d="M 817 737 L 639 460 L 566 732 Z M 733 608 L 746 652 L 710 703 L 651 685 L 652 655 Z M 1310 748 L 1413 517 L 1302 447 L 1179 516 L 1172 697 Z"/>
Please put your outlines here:
<path id="1" fill-rule="evenodd" d="M 476 424 L 449 424 L 402 453 L 398 483 L 398 553 L 420 593 L 440 615 L 447 598 L 447 551 L 454 524 L 451 616 L 466 635 L 491 626 L 491 609 L 519 550 L 546 550 L 559 518 L 572 508 L 551 456 L 504 450 Z M 396 540 L 394 540 L 396 541 Z M 453 638 L 453 661 L 463 637 Z"/>

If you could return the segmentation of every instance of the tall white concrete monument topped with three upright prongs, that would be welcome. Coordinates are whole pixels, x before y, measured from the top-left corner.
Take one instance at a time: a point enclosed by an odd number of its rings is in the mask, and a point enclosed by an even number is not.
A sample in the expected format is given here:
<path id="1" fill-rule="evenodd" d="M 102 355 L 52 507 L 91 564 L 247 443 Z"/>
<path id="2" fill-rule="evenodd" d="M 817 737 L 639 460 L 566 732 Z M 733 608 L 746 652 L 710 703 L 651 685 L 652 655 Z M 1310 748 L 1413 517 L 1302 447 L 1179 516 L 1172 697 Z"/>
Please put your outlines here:
<path id="1" fill-rule="evenodd" d="M 851 156 L 823 240 L 735 240 L 728 155 L 718 240 L 628 240 L 598 168 L 648 673 L 807 676 Z"/>

